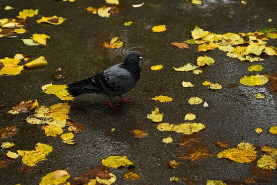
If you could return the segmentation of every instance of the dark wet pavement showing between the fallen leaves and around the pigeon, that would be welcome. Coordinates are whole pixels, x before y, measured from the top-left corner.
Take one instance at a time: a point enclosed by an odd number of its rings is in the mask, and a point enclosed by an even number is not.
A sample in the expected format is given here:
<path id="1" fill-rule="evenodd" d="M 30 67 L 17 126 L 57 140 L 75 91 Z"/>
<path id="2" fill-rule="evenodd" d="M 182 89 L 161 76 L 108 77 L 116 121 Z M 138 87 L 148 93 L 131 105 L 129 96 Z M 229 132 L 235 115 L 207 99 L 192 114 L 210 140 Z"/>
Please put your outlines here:
<path id="1" fill-rule="evenodd" d="M 236 163 L 227 159 L 209 157 L 201 161 L 179 160 L 176 154 L 186 154 L 186 149 L 177 145 L 181 134 L 160 132 L 157 124 L 147 119 L 147 114 L 157 106 L 164 113 L 164 122 L 174 124 L 185 122 L 184 115 L 188 112 L 196 114 L 195 122 L 202 122 L 206 128 L 200 132 L 203 141 L 211 153 L 217 154 L 222 149 L 216 147 L 216 140 L 227 141 L 235 147 L 245 141 L 255 146 L 269 145 L 277 147 L 276 136 L 262 132 L 255 133 L 259 127 L 267 131 L 276 125 L 277 95 L 268 91 L 267 85 L 250 87 L 239 84 L 228 88 L 232 83 L 238 83 L 244 75 L 255 75 L 248 72 L 247 67 L 253 64 L 263 64 L 262 73 L 274 73 L 277 70 L 275 56 L 262 54 L 264 61 L 247 63 L 236 58 L 229 58 L 226 53 L 214 50 L 205 53 L 216 60 L 215 65 L 201 68 L 200 75 L 192 72 L 178 73 L 172 67 L 180 67 L 186 63 L 195 64 L 196 45 L 190 49 L 179 50 L 169 46 L 174 41 L 190 39 L 190 31 L 197 25 L 204 30 L 223 34 L 227 32 L 252 32 L 264 27 L 276 27 L 277 2 L 274 0 L 247 1 L 243 5 L 236 1 L 203 0 L 202 6 L 186 1 L 148 0 L 141 8 L 132 8 L 131 4 L 141 1 L 120 1 L 126 5 L 126 10 L 116 16 L 101 18 L 87 13 L 89 6 L 101 7 L 103 1 L 77 0 L 75 3 L 62 1 L 2 1 L 0 18 L 14 18 L 22 9 L 39 9 L 39 15 L 28 19 L 27 33 L 18 38 L 0 38 L 0 58 L 13 57 L 15 53 L 29 54 L 34 57 L 45 56 L 48 66 L 37 70 L 24 70 L 18 76 L 0 77 L 0 126 L 16 125 L 18 134 L 12 139 L 15 147 L 11 151 L 33 150 L 36 143 L 45 143 L 53 147 L 53 152 L 46 161 L 39 162 L 31 173 L 20 172 L 23 165 L 20 158 L 1 168 L 0 184 L 38 184 L 41 177 L 56 169 L 68 167 L 72 177 L 76 177 L 91 168 L 100 165 L 101 158 L 110 155 L 126 155 L 134 164 L 134 168 L 111 169 L 117 176 L 115 184 L 182 184 L 170 182 L 169 177 L 189 177 L 205 184 L 207 179 L 244 180 L 247 177 L 258 179 L 249 172 L 253 163 Z M 15 9 L 5 11 L 9 5 Z M 38 17 L 57 15 L 66 20 L 61 25 L 52 26 L 37 24 Z M 273 22 L 267 20 L 271 18 Z M 131 26 L 123 23 L 133 21 Z M 166 32 L 153 33 L 153 25 L 165 24 Z M 20 38 L 29 38 L 34 33 L 44 33 L 51 37 L 46 47 L 31 47 L 22 43 Z M 105 49 L 101 43 L 119 36 L 124 42 L 120 49 Z M 276 40 L 268 45 L 276 47 Z M 37 99 L 40 105 L 52 105 L 62 102 L 53 95 L 46 95 L 41 86 L 67 84 L 88 78 L 112 65 L 120 63 L 126 53 L 139 50 L 146 59 L 141 64 L 142 74 L 137 86 L 126 97 L 132 103 L 120 105 L 115 109 L 108 108 L 107 98 L 101 95 L 87 94 L 70 102 L 72 107 L 70 117 L 86 126 L 86 130 L 75 135 L 74 146 L 61 143 L 60 138 L 47 137 L 41 126 L 27 124 L 28 114 L 12 115 L 6 113 L 20 100 Z M 151 71 L 153 65 L 163 65 L 160 71 Z M 53 81 L 51 75 L 60 67 L 66 72 L 66 78 Z M 213 91 L 202 86 L 203 81 L 220 83 L 222 90 Z M 182 81 L 194 84 L 193 88 L 183 88 Z M 253 96 L 257 92 L 266 95 L 258 100 Z M 174 100 L 168 103 L 156 102 L 151 97 L 167 95 Z M 198 96 L 209 103 L 209 108 L 201 104 L 189 105 L 188 98 Z M 115 99 L 118 102 L 119 99 Z M 137 125 L 138 122 L 143 124 Z M 116 131 L 111 133 L 111 129 Z M 131 131 L 141 129 L 149 133 L 148 138 L 134 138 Z M 165 146 L 163 138 L 172 136 L 174 142 Z M 4 141 L 4 140 L 3 140 Z M 1 154 L 6 150 L 0 149 Z M 261 153 L 258 154 L 258 158 Z M 171 159 L 182 162 L 176 169 L 170 169 L 167 162 Z M 141 179 L 125 180 L 122 174 L 134 171 Z M 274 178 L 268 179 L 276 184 Z M 264 184 L 264 183 L 260 183 Z"/>

